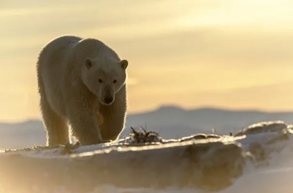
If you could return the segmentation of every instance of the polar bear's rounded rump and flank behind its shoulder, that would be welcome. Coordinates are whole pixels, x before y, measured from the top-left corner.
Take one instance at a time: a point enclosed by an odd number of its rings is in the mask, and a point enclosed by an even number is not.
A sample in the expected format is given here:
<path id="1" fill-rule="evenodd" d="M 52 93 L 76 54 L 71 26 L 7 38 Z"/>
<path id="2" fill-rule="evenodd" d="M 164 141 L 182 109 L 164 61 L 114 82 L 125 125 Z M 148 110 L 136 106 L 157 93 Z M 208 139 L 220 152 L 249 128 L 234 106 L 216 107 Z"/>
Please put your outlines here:
<path id="1" fill-rule="evenodd" d="M 40 51 L 37 61 L 37 76 L 43 95 L 51 108 L 63 109 L 62 83 L 66 77 L 65 61 L 68 51 L 82 38 L 61 36 L 48 42 Z"/>

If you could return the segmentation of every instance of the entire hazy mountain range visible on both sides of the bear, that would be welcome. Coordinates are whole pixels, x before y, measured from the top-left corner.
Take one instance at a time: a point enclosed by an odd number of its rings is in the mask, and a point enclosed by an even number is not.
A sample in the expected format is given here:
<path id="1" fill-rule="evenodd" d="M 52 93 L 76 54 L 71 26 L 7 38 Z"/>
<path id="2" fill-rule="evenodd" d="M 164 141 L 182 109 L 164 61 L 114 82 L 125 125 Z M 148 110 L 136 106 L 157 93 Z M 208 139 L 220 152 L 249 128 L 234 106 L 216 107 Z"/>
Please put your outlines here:
<path id="1" fill-rule="evenodd" d="M 211 133 L 213 128 L 219 134 L 234 133 L 253 123 L 274 120 L 293 123 L 293 112 L 266 113 L 214 108 L 185 110 L 174 106 L 163 106 L 150 112 L 129 114 L 122 136 L 130 133 L 130 127 L 145 128 L 145 124 L 147 130 L 157 131 L 164 138 L 179 138 L 199 132 Z M 40 120 L 15 124 L 0 123 L 1 148 L 19 148 L 45 143 L 46 132 Z"/>

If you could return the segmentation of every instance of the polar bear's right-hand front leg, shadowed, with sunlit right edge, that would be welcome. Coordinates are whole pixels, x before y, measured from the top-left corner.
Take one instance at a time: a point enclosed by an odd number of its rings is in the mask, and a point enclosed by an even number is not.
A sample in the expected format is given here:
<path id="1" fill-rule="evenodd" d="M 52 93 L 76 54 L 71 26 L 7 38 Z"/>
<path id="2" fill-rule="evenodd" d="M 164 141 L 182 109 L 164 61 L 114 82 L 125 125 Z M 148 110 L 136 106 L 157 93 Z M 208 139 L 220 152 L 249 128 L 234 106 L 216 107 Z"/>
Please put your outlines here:
<path id="1" fill-rule="evenodd" d="M 100 131 L 104 140 L 116 140 L 125 125 L 126 105 L 123 101 L 114 101 L 109 106 L 101 105 L 100 113 L 103 120 Z"/>

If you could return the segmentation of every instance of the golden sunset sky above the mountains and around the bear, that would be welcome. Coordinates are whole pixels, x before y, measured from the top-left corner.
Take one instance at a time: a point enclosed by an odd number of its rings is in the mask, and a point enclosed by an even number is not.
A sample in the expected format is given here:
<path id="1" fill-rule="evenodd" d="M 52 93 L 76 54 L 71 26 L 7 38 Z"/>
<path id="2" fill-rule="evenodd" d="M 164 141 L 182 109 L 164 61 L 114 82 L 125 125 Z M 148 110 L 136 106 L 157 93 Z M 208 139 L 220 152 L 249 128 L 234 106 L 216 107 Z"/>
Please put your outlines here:
<path id="1" fill-rule="evenodd" d="M 0 29 L 0 121 L 40 118 L 35 62 L 64 34 L 129 61 L 129 113 L 293 110 L 292 0 L 9 0 Z"/>

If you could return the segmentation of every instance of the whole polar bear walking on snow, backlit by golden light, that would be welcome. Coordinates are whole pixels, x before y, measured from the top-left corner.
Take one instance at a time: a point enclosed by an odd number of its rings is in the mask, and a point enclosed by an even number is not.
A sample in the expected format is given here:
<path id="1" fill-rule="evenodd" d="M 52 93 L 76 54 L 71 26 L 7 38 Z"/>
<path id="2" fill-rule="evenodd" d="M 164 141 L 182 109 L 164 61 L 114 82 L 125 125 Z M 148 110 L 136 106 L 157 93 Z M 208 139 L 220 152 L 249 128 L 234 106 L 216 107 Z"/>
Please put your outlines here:
<path id="1" fill-rule="evenodd" d="M 127 60 L 94 38 L 64 35 L 40 51 L 37 83 L 47 145 L 116 140 L 127 111 Z"/>

